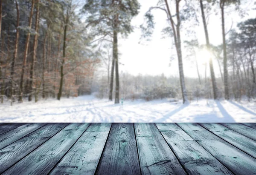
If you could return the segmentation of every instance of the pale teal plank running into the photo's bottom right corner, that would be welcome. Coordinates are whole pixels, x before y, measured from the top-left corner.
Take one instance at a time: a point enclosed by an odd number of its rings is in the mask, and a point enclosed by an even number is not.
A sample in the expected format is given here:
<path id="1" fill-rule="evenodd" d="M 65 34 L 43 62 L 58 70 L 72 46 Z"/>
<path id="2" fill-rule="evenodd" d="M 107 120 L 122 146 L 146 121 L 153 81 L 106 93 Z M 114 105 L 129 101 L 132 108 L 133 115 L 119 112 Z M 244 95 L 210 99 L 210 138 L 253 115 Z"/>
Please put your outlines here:
<path id="1" fill-rule="evenodd" d="M 255 175 L 255 158 L 196 123 L 177 123 L 177 125 L 235 174 Z"/>

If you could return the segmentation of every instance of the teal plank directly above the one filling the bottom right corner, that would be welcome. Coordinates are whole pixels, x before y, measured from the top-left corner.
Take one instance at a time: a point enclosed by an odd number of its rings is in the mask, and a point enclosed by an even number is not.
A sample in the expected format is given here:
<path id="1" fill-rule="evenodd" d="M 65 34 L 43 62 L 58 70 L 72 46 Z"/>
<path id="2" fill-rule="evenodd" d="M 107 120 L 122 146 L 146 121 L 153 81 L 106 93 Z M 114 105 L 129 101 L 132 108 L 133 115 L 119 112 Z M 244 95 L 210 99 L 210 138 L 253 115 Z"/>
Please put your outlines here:
<path id="1" fill-rule="evenodd" d="M 223 140 L 233 144 L 247 154 L 256 158 L 256 141 L 245 137 L 225 126 L 218 123 L 200 123 L 201 126 L 208 129 L 210 132 L 218 135 Z"/>

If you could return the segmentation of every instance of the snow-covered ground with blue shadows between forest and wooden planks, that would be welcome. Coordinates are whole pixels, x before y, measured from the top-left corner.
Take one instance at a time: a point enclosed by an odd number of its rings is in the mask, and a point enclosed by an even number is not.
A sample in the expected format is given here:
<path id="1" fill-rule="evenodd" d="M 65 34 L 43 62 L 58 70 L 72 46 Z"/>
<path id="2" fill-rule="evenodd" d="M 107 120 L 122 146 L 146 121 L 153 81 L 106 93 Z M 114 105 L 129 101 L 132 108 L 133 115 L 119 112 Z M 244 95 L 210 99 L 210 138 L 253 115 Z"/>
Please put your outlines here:
<path id="1" fill-rule="evenodd" d="M 168 99 L 126 100 L 123 106 L 91 95 L 0 104 L 0 122 L 256 122 L 256 103 Z"/>

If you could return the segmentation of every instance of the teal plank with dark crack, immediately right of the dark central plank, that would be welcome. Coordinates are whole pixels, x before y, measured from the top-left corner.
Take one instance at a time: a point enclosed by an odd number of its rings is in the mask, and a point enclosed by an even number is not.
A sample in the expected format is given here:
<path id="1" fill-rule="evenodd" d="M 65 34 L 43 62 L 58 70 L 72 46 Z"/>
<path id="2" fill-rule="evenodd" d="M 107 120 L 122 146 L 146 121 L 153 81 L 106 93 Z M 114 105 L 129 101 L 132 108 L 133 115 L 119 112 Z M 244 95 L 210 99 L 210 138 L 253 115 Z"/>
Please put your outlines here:
<path id="1" fill-rule="evenodd" d="M 154 123 L 134 123 L 143 175 L 186 174 Z"/>

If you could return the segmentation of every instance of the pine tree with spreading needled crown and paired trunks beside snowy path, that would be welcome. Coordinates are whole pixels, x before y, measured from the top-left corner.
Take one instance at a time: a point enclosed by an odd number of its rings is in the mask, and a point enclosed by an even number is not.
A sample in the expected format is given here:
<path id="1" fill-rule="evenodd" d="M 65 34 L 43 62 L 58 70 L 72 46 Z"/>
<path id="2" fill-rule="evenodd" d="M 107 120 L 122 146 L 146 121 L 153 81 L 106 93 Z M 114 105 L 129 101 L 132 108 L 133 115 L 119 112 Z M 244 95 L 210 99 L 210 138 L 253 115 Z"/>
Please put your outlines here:
<path id="1" fill-rule="evenodd" d="M 95 34 L 113 38 L 113 60 L 109 99 L 112 100 L 113 72 L 116 72 L 115 103 L 119 103 L 119 70 L 118 70 L 118 34 L 127 36 L 133 31 L 131 19 L 139 13 L 137 0 L 86 0 L 83 8 L 87 15 L 87 26 L 91 26 Z"/>

